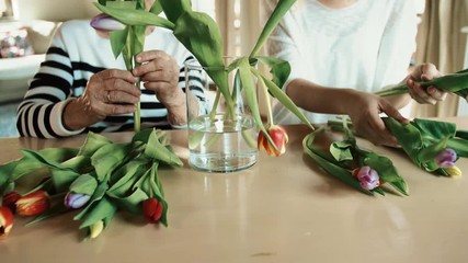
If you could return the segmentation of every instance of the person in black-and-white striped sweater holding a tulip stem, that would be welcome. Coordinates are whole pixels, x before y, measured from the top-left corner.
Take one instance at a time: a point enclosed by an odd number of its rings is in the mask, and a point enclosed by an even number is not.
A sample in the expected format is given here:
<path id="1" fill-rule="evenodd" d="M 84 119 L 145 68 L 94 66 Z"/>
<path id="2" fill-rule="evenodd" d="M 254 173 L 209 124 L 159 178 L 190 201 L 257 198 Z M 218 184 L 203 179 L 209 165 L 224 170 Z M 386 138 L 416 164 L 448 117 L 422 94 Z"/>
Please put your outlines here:
<path id="1" fill-rule="evenodd" d="M 146 0 L 149 9 L 155 0 Z M 134 126 L 135 103 L 141 126 L 178 128 L 186 124 L 184 61 L 192 55 L 172 32 L 148 27 L 141 66 L 127 71 L 115 59 L 109 32 L 90 21 L 65 22 L 18 110 L 22 136 L 67 137 L 89 130 L 118 132 Z M 138 78 L 144 83 L 136 87 Z M 202 90 L 197 93 L 204 100 Z"/>

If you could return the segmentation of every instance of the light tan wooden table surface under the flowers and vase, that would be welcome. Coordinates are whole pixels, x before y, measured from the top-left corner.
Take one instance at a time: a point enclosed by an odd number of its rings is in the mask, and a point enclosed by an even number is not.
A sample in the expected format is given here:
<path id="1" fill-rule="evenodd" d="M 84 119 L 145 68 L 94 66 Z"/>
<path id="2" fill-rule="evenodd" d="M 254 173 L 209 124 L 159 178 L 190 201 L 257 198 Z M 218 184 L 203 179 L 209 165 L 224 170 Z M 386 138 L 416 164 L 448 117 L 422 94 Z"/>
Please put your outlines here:
<path id="1" fill-rule="evenodd" d="M 468 129 L 468 118 L 448 118 Z M 244 171 L 191 169 L 186 132 L 169 132 L 183 168 L 160 170 L 169 227 L 118 213 L 93 241 L 81 241 L 73 214 L 25 227 L 16 218 L 0 240 L 1 262 L 468 262 L 468 180 L 423 172 L 400 150 L 359 146 L 389 157 L 410 196 L 367 196 L 320 171 L 303 153 L 310 130 L 287 126 L 287 152 L 260 153 Z M 128 141 L 130 133 L 106 135 Z M 78 147 L 83 136 L 0 139 L 0 163 L 20 148 Z M 458 167 L 468 171 L 468 161 Z"/>

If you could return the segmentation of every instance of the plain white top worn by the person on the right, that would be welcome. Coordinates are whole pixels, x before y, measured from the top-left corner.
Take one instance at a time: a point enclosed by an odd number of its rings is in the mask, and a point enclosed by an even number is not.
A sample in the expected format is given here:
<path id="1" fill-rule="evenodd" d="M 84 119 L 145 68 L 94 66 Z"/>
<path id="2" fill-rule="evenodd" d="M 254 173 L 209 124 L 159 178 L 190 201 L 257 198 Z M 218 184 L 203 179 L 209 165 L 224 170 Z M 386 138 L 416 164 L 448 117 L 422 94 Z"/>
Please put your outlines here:
<path id="1" fill-rule="evenodd" d="M 267 9 L 276 2 L 267 0 Z M 409 0 L 358 0 L 343 9 L 330 9 L 317 0 L 298 1 L 272 34 L 269 54 L 290 62 L 284 87 L 301 78 L 324 87 L 373 92 L 406 78 L 415 49 L 416 23 Z M 273 111 L 276 123 L 300 122 L 277 102 Z M 334 116 L 305 113 L 312 123 Z M 409 106 L 402 113 L 408 115 Z"/>

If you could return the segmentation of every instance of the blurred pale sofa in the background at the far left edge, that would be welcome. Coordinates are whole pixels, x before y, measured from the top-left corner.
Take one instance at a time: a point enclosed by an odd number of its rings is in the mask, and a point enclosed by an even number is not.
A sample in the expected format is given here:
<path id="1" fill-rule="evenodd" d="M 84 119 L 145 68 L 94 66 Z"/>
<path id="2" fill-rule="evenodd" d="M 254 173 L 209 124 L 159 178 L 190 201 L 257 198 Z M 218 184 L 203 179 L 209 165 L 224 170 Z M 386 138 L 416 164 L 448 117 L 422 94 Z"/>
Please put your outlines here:
<path id="1" fill-rule="evenodd" d="M 18 102 L 23 98 L 27 83 L 37 72 L 52 36 L 59 25 L 60 22 L 43 20 L 0 22 L 0 35 L 3 37 L 3 44 L 8 42 L 4 39 L 10 36 L 8 38 L 10 42 L 16 41 L 12 46 L 22 46 L 21 54 L 18 48 L 10 48 L 10 53 L 8 53 L 8 48 L 3 48 L 0 53 L 2 55 L 0 58 L 0 104 Z M 21 44 L 18 44 L 19 42 Z M 15 52 L 19 54 L 14 54 Z"/>

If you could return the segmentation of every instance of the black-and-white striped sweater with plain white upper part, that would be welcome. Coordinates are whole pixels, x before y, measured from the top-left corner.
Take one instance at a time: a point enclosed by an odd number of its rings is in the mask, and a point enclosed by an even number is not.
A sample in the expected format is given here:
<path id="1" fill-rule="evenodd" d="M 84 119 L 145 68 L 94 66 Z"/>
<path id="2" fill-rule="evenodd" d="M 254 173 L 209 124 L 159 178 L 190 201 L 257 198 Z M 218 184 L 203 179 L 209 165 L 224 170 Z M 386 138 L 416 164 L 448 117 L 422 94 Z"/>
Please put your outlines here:
<path id="1" fill-rule="evenodd" d="M 185 91 L 184 61 L 192 55 L 172 35 L 157 27 L 146 37 L 145 50 L 160 49 L 173 56 L 180 65 L 179 87 Z M 92 75 L 109 68 L 125 69 L 122 56 L 112 54 L 109 39 L 100 37 L 89 21 L 62 23 L 47 50 L 46 59 L 30 81 L 24 100 L 18 108 L 16 127 L 21 136 L 60 138 L 80 133 L 109 133 L 132 129 L 133 115 L 107 116 L 81 130 L 68 130 L 62 124 L 62 111 L 71 98 L 79 98 Z M 195 77 L 198 79 L 198 77 Z M 191 90 L 199 100 L 205 95 L 202 79 Z M 172 128 L 168 112 L 152 91 L 141 89 L 141 127 Z"/>

